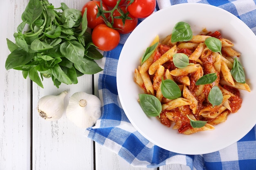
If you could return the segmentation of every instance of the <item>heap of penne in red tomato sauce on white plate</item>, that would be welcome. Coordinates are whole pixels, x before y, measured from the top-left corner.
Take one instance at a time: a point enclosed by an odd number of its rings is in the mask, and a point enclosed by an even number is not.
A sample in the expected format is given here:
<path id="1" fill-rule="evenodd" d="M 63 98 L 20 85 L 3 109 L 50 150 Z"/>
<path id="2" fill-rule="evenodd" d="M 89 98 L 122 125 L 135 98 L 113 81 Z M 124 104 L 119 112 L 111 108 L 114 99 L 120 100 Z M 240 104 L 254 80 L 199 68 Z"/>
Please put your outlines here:
<path id="1" fill-rule="evenodd" d="M 151 45 L 158 42 L 157 48 L 134 72 L 134 81 L 139 87 L 160 101 L 160 117 L 166 117 L 173 129 L 186 135 L 214 130 L 215 125 L 226 121 L 229 113 L 235 113 L 241 107 L 238 89 L 250 92 L 249 85 L 236 82 L 230 72 L 233 56 L 240 57 L 232 41 L 219 39 L 221 53 L 214 52 L 209 44 L 209 48 L 205 44 L 205 40 L 211 37 L 209 35 L 212 34 L 193 35 L 186 42 L 171 42 L 172 35 L 160 42 L 156 36 Z M 186 55 L 180 55 L 181 58 L 173 61 L 175 53 Z M 207 75 L 209 73 L 216 73 L 217 78 L 215 74 Z M 163 79 L 173 81 L 162 82 Z M 198 79 L 200 83 L 197 83 Z M 164 91 L 161 91 L 161 84 L 164 84 Z M 213 86 L 218 87 L 215 88 L 217 92 L 211 91 Z M 175 90 L 172 91 L 172 88 Z M 223 97 L 222 101 L 216 100 L 220 99 L 218 97 Z M 202 126 L 192 127 L 191 121 L 205 122 Z M 170 124 L 164 125 L 170 127 Z"/>

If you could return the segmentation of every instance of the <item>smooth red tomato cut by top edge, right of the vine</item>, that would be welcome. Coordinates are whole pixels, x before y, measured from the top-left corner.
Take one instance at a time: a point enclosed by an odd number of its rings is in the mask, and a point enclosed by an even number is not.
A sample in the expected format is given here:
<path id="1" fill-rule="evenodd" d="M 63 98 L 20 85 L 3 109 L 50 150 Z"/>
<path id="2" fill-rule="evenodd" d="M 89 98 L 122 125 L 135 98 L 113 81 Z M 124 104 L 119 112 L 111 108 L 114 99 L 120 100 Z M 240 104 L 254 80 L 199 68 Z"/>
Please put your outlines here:
<path id="1" fill-rule="evenodd" d="M 128 4 L 130 1 L 128 1 Z M 127 7 L 130 14 L 136 18 L 148 17 L 156 7 L 156 0 L 134 0 L 132 4 Z"/>

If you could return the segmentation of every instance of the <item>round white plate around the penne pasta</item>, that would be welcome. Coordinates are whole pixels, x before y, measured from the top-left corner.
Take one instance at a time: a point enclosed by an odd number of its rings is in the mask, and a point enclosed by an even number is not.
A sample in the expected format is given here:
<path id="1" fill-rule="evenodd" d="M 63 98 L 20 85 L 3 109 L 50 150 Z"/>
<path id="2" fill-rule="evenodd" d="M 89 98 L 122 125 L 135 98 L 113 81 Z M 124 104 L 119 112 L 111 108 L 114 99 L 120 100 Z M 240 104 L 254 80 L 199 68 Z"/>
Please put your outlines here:
<path id="1" fill-rule="evenodd" d="M 155 117 L 147 117 L 137 102 L 143 93 L 135 84 L 134 70 L 139 59 L 156 35 L 160 40 L 169 35 L 177 22 L 190 24 L 196 35 L 206 28 L 220 31 L 230 39 L 235 49 L 242 53 L 240 62 L 245 67 L 251 92 L 240 91 L 243 104 L 238 112 L 229 115 L 227 121 L 215 126 L 215 130 L 191 135 L 162 125 Z M 181 154 L 205 154 L 223 149 L 244 137 L 256 124 L 254 110 L 256 99 L 256 36 L 241 20 L 231 13 L 207 4 L 177 4 L 150 15 L 128 37 L 121 51 L 117 66 L 117 90 L 121 105 L 132 125 L 153 144 Z"/>

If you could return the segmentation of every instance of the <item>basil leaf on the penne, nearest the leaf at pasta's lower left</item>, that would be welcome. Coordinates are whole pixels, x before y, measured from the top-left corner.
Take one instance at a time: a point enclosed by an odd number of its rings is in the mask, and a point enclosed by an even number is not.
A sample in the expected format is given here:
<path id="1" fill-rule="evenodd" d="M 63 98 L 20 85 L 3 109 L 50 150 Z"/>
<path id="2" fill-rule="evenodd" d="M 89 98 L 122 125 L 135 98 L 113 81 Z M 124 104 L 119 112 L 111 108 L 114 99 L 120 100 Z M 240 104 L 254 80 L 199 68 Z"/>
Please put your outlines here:
<path id="1" fill-rule="evenodd" d="M 167 99 L 177 99 L 181 97 L 181 91 L 179 86 L 171 79 L 163 79 L 161 83 L 161 92 Z"/>

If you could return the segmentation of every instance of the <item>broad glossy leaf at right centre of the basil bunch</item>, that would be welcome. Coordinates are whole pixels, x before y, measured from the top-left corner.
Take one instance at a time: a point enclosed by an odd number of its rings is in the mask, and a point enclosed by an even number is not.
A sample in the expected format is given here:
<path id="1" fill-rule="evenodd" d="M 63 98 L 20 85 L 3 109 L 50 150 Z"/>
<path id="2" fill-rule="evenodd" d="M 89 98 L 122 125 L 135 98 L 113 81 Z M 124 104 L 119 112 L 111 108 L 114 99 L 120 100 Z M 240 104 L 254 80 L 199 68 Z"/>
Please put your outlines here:
<path id="1" fill-rule="evenodd" d="M 77 41 L 63 42 L 60 46 L 60 51 L 68 60 L 75 64 L 81 64 L 85 55 L 83 45 Z"/>

